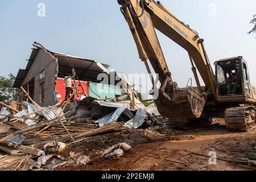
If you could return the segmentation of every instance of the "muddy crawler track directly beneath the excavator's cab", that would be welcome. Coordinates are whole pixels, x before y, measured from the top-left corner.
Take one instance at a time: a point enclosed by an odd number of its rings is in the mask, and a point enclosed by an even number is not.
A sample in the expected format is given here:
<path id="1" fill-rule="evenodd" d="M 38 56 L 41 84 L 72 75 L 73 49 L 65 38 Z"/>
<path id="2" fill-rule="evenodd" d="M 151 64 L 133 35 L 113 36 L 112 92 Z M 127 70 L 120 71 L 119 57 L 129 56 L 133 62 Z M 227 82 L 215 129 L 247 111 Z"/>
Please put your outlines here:
<path id="1" fill-rule="evenodd" d="M 225 110 L 225 123 L 229 130 L 248 131 L 255 124 L 256 109 L 253 106 L 230 107 Z"/>

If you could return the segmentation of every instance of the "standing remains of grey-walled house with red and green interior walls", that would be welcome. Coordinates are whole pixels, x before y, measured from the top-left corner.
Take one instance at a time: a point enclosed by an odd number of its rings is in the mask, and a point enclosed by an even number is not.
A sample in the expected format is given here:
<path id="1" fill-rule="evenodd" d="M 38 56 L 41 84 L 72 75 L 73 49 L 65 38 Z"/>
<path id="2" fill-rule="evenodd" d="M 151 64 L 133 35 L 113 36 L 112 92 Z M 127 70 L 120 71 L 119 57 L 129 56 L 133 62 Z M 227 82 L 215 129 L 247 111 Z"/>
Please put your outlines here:
<path id="1" fill-rule="evenodd" d="M 108 84 L 100 84 L 102 80 L 97 79 L 101 73 L 110 77 L 109 65 L 50 51 L 39 43 L 32 45 L 34 48 L 27 60 L 26 69 L 19 69 L 13 87 L 22 86 L 36 103 L 47 106 L 64 100 L 66 94 L 64 76 L 67 72 L 72 72 L 73 68 L 76 72 L 75 85 L 80 85 L 77 88 L 78 92 L 86 92 L 88 96 L 107 99 L 121 96 L 121 87 L 116 86 L 121 78 L 112 83 L 108 81 Z M 113 74 L 116 76 L 116 73 Z M 104 92 L 98 92 L 99 87 Z M 83 96 L 79 93 L 75 94 L 75 98 L 81 99 Z M 22 94 L 21 101 L 29 100 Z"/>

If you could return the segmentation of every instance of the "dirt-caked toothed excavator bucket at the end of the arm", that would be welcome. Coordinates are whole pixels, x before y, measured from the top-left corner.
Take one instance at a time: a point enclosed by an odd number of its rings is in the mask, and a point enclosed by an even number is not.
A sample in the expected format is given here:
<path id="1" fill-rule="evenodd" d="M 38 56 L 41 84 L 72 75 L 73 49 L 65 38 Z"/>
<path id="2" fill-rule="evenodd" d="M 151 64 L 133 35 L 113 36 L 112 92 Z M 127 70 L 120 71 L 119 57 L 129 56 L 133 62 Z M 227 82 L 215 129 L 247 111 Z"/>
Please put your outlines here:
<path id="1" fill-rule="evenodd" d="M 204 110 L 206 93 L 196 88 L 173 89 L 172 101 L 160 94 L 156 101 L 161 115 L 167 118 L 199 118 Z"/>

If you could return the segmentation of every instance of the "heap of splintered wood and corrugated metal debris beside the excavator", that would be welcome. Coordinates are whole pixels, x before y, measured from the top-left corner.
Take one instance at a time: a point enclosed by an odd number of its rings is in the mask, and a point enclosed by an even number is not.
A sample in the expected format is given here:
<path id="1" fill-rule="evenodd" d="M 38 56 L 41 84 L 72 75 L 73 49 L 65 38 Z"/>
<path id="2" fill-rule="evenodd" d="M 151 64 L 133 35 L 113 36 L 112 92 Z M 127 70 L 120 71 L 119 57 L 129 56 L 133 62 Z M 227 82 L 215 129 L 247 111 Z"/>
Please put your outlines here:
<path id="1" fill-rule="evenodd" d="M 59 154 L 92 136 L 162 123 L 154 104 L 145 107 L 136 98 L 127 101 L 127 96 L 113 100 L 86 97 L 70 102 L 70 96 L 53 106 L 41 107 L 21 89 L 30 101 L 21 102 L 23 109 L 0 103 L 10 110 L 0 120 L 1 170 L 55 169 L 67 164 L 68 159 L 87 164 L 90 158 L 80 153 L 71 152 L 65 160 Z M 99 157 L 120 158 L 130 148 L 127 143 L 119 143 Z"/>

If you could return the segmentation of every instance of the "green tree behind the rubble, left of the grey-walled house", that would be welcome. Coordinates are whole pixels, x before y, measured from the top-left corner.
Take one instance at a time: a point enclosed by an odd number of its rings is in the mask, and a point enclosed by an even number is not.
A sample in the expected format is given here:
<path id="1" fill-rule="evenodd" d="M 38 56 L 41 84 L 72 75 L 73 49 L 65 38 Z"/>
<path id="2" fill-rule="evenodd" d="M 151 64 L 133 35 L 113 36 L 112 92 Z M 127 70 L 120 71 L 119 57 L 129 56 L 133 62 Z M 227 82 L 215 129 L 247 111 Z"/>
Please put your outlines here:
<path id="1" fill-rule="evenodd" d="M 9 77 L 0 76 L 0 101 L 9 104 L 10 101 L 19 100 L 19 89 L 13 88 L 15 76 L 10 73 Z"/>

